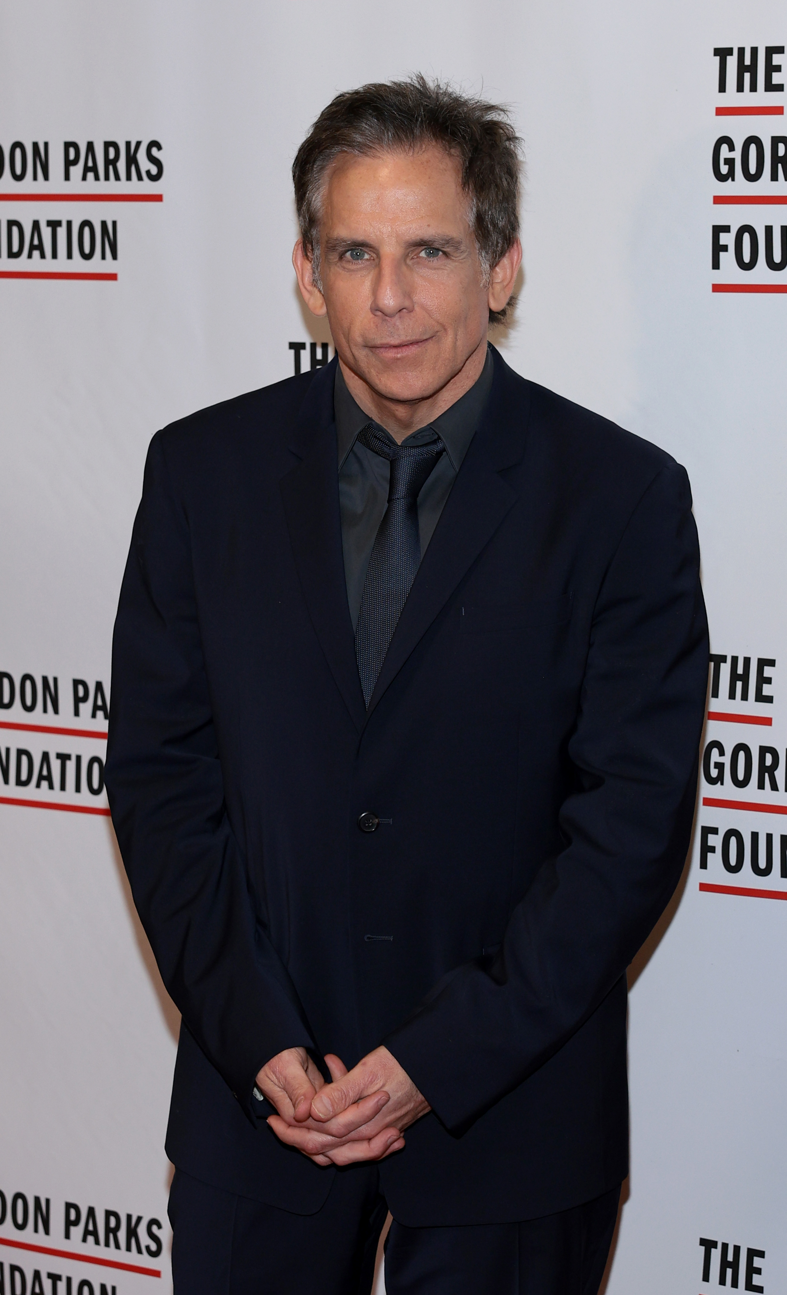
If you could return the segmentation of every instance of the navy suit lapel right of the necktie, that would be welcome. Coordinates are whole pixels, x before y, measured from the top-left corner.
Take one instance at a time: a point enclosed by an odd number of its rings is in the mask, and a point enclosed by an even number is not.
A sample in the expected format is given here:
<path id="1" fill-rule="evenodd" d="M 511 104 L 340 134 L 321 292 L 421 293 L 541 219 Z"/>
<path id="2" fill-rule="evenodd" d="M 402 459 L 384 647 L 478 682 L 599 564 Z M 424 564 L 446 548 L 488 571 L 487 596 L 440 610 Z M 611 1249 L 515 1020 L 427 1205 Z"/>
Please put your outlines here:
<path id="1" fill-rule="evenodd" d="M 368 716 L 516 501 L 516 491 L 500 473 L 523 456 L 529 395 L 526 383 L 494 348 L 493 356 L 494 378 L 482 426 L 470 443 L 413 581 Z"/>

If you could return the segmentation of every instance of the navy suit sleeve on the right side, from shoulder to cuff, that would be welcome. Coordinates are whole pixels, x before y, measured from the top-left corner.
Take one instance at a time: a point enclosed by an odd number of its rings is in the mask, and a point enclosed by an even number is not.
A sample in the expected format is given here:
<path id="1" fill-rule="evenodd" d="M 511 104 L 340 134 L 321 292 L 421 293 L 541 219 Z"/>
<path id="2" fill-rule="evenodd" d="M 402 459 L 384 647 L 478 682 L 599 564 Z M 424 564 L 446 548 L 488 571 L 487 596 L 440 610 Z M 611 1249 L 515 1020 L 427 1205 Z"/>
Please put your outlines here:
<path id="1" fill-rule="evenodd" d="M 449 973 L 384 1040 L 449 1129 L 571 1037 L 668 903 L 691 835 L 707 671 L 691 495 L 671 464 L 629 517 L 597 597 L 566 848 L 536 873 L 494 962 Z"/>

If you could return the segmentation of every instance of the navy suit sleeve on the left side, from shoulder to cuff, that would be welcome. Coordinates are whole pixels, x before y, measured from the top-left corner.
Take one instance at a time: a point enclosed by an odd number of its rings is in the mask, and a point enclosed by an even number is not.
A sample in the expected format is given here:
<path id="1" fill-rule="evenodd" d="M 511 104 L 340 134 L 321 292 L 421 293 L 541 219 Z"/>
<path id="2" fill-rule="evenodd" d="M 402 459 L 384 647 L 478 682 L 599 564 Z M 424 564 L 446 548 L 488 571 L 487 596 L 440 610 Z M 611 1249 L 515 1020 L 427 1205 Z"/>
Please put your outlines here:
<path id="1" fill-rule="evenodd" d="M 106 789 L 164 985 L 252 1118 L 260 1067 L 313 1040 L 255 913 L 228 820 L 188 515 L 161 433 L 148 455 L 115 622 Z"/>

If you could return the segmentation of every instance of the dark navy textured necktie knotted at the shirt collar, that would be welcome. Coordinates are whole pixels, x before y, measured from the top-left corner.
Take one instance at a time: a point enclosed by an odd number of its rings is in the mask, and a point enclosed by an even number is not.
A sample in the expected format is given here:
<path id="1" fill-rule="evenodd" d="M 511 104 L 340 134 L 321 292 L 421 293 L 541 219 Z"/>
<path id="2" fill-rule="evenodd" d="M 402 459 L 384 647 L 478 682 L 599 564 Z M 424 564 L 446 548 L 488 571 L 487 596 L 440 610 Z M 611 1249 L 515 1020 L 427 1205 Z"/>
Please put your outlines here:
<path id="1" fill-rule="evenodd" d="M 439 436 L 422 445 L 396 445 L 373 422 L 361 429 L 357 439 L 391 461 L 388 506 L 374 537 L 355 633 L 361 688 L 369 706 L 421 563 L 418 495 L 445 445 Z"/>

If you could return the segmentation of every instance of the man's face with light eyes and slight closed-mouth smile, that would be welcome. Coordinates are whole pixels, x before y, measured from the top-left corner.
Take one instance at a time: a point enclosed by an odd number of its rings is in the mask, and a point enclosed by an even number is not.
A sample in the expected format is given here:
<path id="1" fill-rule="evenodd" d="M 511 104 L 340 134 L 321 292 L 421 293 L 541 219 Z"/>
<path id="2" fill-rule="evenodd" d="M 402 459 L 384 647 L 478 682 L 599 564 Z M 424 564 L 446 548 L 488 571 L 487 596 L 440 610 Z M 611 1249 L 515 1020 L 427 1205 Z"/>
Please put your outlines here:
<path id="1" fill-rule="evenodd" d="M 321 297 L 342 363 L 386 400 L 428 399 L 485 346 L 467 206 L 458 163 L 436 146 L 346 154 L 329 174 Z"/>

